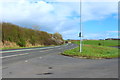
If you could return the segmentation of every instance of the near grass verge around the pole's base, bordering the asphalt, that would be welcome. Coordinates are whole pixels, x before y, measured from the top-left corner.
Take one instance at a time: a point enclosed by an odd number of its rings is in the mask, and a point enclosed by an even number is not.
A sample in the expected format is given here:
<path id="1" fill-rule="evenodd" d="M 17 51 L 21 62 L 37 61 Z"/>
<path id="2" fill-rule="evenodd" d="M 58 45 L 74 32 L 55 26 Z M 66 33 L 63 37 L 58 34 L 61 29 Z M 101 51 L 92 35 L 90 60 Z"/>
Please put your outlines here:
<path id="1" fill-rule="evenodd" d="M 107 45 L 109 45 L 109 43 L 107 43 L 106 46 L 100 46 L 95 44 L 92 45 L 89 42 L 88 44 L 83 45 L 82 53 L 79 52 L 79 47 L 77 47 L 71 50 L 64 51 L 62 55 L 87 59 L 110 59 L 118 57 L 119 49 L 108 47 Z M 79 42 L 75 43 L 79 44 Z"/>

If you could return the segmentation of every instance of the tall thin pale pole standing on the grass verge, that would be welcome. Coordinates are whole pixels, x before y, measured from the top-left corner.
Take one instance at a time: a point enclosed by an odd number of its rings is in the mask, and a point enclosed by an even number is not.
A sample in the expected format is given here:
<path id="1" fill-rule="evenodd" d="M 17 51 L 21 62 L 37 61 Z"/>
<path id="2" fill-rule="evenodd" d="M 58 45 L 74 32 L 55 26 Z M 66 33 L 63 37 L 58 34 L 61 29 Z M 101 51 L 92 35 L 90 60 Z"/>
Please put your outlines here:
<path id="1" fill-rule="evenodd" d="M 80 53 L 82 52 L 82 0 L 80 0 Z"/>

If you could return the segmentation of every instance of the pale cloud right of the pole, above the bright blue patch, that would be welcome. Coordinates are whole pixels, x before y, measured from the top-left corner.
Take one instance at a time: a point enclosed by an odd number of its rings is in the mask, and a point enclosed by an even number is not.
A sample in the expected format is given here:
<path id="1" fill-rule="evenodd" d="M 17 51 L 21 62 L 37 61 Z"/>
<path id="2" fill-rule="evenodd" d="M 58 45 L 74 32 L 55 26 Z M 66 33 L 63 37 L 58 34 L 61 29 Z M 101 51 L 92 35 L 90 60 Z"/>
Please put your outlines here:
<path id="1" fill-rule="evenodd" d="M 118 3 L 85 2 L 82 4 L 82 20 L 102 20 L 118 13 Z"/>

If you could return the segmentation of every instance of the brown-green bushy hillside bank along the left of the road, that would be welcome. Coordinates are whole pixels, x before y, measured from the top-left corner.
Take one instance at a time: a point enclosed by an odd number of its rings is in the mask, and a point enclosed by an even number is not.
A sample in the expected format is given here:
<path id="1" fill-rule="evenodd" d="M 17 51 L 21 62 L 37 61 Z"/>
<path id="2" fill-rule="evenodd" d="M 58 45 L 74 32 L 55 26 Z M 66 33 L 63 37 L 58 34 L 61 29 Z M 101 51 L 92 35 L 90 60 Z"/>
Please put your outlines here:
<path id="1" fill-rule="evenodd" d="M 62 35 L 59 33 L 50 34 L 44 31 L 23 28 L 11 23 L 0 24 L 2 24 L 1 48 L 63 44 Z"/>

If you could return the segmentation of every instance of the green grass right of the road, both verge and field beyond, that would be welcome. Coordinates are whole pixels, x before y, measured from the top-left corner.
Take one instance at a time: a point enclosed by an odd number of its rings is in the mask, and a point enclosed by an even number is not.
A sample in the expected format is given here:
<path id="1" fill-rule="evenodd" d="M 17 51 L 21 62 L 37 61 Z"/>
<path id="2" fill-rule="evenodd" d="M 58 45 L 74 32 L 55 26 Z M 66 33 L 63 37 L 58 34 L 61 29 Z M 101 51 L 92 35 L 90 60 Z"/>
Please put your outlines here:
<path id="1" fill-rule="evenodd" d="M 79 41 L 73 41 L 73 43 L 79 45 Z M 109 46 L 118 45 L 117 40 L 86 40 L 83 41 L 82 53 L 79 52 L 79 47 L 77 47 L 75 49 L 66 50 L 62 54 L 87 59 L 117 58 L 119 49 Z"/>

